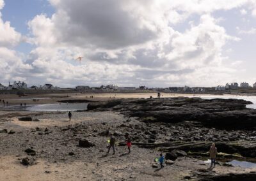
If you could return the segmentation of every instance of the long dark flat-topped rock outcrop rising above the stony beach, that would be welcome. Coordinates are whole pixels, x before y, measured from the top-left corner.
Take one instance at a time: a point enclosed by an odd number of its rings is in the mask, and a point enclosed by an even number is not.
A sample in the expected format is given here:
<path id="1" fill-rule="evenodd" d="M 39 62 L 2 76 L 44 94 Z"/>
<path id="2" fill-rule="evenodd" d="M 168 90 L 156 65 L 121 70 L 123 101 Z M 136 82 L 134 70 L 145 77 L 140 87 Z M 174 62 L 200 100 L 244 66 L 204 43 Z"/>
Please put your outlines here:
<path id="1" fill-rule="evenodd" d="M 196 121 L 221 129 L 255 129 L 256 110 L 246 108 L 248 104 L 241 99 L 118 99 L 89 103 L 88 110 L 114 110 L 145 122 Z"/>

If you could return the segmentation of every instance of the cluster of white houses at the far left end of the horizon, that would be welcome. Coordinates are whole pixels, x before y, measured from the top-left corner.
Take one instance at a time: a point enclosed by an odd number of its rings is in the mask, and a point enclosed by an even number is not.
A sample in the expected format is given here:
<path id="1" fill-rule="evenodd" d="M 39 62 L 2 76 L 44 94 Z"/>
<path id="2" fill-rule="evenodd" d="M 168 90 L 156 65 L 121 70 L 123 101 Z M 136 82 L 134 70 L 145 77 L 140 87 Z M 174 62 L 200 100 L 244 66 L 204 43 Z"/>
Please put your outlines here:
<path id="1" fill-rule="evenodd" d="M 51 83 L 45 83 L 44 85 L 40 85 L 39 87 L 33 85 L 28 87 L 28 84 L 25 82 L 16 82 L 14 81 L 13 84 L 9 82 L 8 86 L 4 86 L 0 83 L 0 90 L 12 90 L 12 89 L 58 89 L 58 87 L 54 87 Z"/>

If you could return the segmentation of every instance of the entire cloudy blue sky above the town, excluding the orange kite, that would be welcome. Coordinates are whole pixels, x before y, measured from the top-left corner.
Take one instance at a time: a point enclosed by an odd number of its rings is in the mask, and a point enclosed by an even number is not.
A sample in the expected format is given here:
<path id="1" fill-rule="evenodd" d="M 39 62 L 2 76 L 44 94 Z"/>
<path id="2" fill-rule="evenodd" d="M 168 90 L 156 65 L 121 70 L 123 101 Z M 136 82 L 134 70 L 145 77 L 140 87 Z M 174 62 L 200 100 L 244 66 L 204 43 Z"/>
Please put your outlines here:
<path id="1" fill-rule="evenodd" d="M 3 85 L 252 85 L 255 42 L 256 0 L 0 0 Z"/>

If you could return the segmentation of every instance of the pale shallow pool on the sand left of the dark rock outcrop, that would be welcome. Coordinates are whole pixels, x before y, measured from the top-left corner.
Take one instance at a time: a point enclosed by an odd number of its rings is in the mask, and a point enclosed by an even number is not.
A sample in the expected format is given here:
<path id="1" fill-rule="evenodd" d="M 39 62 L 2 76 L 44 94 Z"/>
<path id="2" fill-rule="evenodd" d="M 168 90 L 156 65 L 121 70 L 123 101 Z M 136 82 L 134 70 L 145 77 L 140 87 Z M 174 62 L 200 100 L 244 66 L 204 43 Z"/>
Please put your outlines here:
<path id="1" fill-rule="evenodd" d="M 28 106 L 26 110 L 35 112 L 67 112 L 77 110 L 87 110 L 88 103 L 58 103 L 58 104 L 46 104 L 46 105 L 33 105 Z"/>

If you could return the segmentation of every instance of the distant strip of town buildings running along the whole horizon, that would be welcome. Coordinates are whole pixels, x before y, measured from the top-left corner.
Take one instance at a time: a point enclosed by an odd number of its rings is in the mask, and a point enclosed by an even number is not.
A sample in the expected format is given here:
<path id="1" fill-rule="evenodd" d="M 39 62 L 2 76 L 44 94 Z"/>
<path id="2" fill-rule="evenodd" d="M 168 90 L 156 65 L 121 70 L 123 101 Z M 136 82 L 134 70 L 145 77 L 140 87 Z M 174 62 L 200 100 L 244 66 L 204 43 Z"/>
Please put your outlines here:
<path id="1" fill-rule="evenodd" d="M 62 90 L 68 88 L 60 88 L 52 85 L 51 83 L 45 83 L 40 86 L 31 86 L 28 87 L 28 84 L 25 82 L 9 82 L 8 86 L 4 86 L 0 83 L 0 90 Z M 70 88 L 72 89 L 72 88 Z M 119 87 L 117 85 L 101 85 L 99 87 L 90 87 L 88 85 L 77 85 L 74 91 L 86 92 L 86 91 L 164 91 L 164 92 L 225 92 L 238 89 L 256 89 L 256 83 L 253 83 L 251 86 L 247 82 L 241 82 L 240 85 L 237 82 L 226 83 L 226 85 L 218 85 L 216 87 L 189 87 L 185 85 L 184 87 L 166 87 L 166 88 L 149 88 L 145 85 L 140 85 L 139 87 Z"/>

